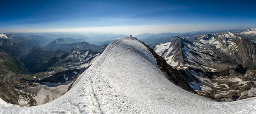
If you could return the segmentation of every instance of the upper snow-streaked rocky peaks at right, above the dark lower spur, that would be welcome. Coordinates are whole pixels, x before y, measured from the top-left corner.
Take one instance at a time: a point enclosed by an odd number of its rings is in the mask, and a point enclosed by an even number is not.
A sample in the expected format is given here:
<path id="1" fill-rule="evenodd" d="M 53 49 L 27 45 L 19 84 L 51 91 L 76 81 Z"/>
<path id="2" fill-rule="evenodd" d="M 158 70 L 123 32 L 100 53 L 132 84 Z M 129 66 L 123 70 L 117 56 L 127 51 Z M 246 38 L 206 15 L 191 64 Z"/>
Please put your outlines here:
<path id="1" fill-rule="evenodd" d="M 156 52 L 173 67 L 182 69 L 193 66 L 209 71 L 223 70 L 237 64 L 255 69 L 255 49 L 256 44 L 232 33 L 217 36 L 205 34 L 194 42 L 176 37 L 172 42 L 155 47 Z"/>

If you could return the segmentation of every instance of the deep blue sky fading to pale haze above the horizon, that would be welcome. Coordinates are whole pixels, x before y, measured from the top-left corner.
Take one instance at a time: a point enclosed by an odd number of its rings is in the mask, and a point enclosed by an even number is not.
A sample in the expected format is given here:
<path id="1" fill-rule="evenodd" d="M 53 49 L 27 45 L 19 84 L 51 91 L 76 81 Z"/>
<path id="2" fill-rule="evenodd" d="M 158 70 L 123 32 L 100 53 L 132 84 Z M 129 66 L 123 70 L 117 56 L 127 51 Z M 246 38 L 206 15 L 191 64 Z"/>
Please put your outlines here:
<path id="1" fill-rule="evenodd" d="M 256 26 L 255 0 L 1 0 L 0 30 L 141 34 Z"/>

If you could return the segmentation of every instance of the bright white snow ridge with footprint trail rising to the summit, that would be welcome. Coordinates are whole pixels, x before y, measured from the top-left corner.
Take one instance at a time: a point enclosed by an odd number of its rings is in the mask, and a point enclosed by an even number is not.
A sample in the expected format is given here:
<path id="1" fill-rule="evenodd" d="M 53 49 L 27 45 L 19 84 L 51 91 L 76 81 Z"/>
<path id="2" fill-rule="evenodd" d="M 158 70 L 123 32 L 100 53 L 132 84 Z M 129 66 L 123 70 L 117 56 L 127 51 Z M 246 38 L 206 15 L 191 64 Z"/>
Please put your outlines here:
<path id="1" fill-rule="evenodd" d="M 136 38 L 113 41 L 56 100 L 34 107 L 0 107 L 0 114 L 255 113 L 256 99 L 220 103 L 187 92 L 162 74 Z"/>

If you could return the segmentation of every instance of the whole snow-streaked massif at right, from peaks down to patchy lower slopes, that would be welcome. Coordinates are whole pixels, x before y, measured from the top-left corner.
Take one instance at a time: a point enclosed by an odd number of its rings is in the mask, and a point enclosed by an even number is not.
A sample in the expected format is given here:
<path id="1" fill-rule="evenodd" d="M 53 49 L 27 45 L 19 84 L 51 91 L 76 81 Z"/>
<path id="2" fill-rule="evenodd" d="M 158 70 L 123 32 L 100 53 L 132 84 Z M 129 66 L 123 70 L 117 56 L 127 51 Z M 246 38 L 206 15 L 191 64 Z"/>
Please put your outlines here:
<path id="1" fill-rule="evenodd" d="M 155 51 L 203 96 L 219 101 L 255 96 L 249 93 L 256 87 L 256 44 L 243 35 L 204 34 L 193 42 L 176 37 Z"/>

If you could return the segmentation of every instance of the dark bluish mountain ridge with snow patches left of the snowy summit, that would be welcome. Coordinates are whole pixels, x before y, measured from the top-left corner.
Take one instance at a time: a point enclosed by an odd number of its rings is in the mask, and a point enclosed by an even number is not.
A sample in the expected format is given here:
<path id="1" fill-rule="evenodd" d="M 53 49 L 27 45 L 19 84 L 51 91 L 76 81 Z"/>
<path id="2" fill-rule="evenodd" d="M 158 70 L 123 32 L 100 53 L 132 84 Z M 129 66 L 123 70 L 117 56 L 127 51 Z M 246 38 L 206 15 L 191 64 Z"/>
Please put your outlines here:
<path id="1" fill-rule="evenodd" d="M 47 71 L 50 67 L 62 67 L 65 69 L 75 69 L 90 63 L 94 57 L 99 56 L 99 52 L 92 50 L 81 50 L 74 48 L 71 51 L 44 51 L 40 45 L 36 45 L 31 51 L 22 57 L 20 61 L 28 68 L 29 73 L 35 74 Z"/>

